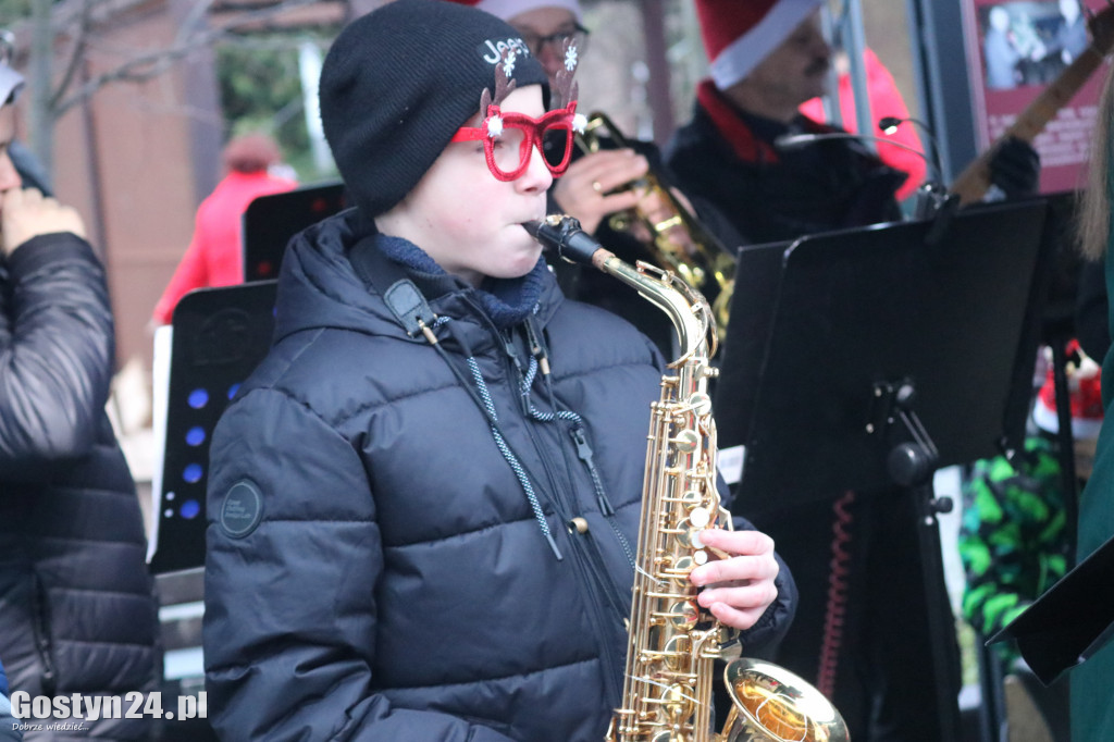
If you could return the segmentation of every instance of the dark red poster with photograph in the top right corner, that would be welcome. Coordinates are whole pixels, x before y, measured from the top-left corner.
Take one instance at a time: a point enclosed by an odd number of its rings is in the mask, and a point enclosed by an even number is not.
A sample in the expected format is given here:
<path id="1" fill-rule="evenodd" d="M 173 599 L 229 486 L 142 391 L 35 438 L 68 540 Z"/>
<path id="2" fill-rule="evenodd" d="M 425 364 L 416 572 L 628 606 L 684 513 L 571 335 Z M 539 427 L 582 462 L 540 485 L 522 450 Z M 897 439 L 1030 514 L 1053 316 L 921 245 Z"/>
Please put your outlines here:
<path id="1" fill-rule="evenodd" d="M 1085 9 L 1106 0 L 964 0 L 968 69 L 979 152 L 1019 124 L 1043 125 L 1040 192 L 1083 184 L 1108 49 L 1092 48 Z M 1097 53 L 1096 53 L 1097 52 Z M 1033 127 L 1037 128 L 1037 127 Z"/>

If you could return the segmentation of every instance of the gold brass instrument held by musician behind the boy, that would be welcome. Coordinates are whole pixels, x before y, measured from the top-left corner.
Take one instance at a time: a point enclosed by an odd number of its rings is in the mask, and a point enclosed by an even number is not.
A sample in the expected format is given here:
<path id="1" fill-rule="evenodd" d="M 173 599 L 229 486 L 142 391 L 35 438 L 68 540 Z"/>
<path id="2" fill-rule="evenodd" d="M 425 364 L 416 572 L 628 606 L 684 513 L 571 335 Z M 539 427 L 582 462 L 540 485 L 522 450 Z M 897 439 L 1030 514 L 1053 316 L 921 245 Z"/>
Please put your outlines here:
<path id="1" fill-rule="evenodd" d="M 576 135 L 577 147 L 584 153 L 599 152 L 604 138 L 618 148 L 631 146 L 606 114 L 594 111 L 584 131 Z M 616 232 L 631 232 L 636 222 L 641 223 L 652 235 L 648 244 L 639 240 L 651 261 L 659 269 L 672 271 L 711 300 L 716 325 L 722 333 L 731 312 L 731 293 L 735 283 L 734 254 L 681 203 L 653 168 L 624 188 L 656 194 L 671 214 L 664 219 L 655 219 L 638 208 L 633 213 L 619 212 L 608 218 L 610 227 Z"/>

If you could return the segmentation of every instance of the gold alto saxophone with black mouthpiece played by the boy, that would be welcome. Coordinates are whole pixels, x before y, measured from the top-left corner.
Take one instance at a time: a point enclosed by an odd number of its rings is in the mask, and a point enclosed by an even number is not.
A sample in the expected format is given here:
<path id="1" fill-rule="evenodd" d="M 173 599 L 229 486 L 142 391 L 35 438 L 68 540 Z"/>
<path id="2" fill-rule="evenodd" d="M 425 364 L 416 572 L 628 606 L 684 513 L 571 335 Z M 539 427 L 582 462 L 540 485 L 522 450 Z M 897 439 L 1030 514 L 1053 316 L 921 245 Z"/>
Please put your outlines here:
<path id="1" fill-rule="evenodd" d="M 711 558 L 704 528 L 731 528 L 715 486 L 716 436 L 709 380 L 715 320 L 707 301 L 673 273 L 624 263 L 567 216 L 524 225 L 543 245 L 629 284 L 670 315 L 681 355 L 662 379 L 651 414 L 642 524 L 632 595 L 622 706 L 607 742 L 847 742 L 839 712 L 783 667 L 734 658 L 724 680 L 732 700 L 713 731 L 713 661 L 730 629 L 696 602 L 688 574 Z"/>

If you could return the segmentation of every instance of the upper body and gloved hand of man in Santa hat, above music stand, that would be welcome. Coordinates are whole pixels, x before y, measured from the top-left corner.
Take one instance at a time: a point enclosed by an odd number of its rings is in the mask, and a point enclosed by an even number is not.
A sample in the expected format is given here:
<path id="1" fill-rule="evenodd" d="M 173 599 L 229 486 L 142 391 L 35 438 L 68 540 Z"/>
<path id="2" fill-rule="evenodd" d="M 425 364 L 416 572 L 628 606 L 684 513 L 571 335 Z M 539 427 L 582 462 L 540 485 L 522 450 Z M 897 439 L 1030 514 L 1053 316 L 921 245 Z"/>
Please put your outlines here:
<path id="1" fill-rule="evenodd" d="M 832 50 L 820 28 L 820 0 L 697 0 L 711 67 L 693 120 L 666 147 L 686 195 L 707 199 L 753 243 L 793 240 L 900 221 L 907 175 L 800 106 L 827 89 Z M 799 148 L 785 135 L 837 135 Z M 1009 138 L 990 175 L 1006 197 L 1032 195 L 1039 157 Z"/>

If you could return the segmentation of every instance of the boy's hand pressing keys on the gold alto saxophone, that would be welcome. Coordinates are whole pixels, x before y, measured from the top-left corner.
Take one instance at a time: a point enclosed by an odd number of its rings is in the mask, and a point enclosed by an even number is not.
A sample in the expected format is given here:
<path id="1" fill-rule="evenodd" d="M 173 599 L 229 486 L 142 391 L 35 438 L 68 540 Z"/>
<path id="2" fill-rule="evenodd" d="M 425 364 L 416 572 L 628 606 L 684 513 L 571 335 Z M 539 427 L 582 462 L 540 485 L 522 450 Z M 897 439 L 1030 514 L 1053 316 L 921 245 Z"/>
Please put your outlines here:
<path id="1" fill-rule="evenodd" d="M 758 530 L 701 531 L 701 543 L 729 555 L 690 573 L 693 585 L 704 587 L 696 602 L 726 626 L 746 629 L 758 623 L 778 598 L 774 578 L 778 560 L 773 539 Z"/>

